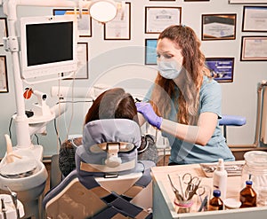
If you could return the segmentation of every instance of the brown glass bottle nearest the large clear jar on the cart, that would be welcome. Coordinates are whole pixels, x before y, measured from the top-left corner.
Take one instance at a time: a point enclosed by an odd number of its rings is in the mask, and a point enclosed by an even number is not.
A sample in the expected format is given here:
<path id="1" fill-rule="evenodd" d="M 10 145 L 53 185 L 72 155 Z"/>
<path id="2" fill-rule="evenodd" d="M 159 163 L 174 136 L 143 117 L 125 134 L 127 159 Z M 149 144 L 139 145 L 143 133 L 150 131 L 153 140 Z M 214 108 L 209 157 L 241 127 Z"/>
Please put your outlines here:
<path id="1" fill-rule="evenodd" d="M 241 207 L 256 207 L 257 194 L 252 188 L 252 181 L 246 181 L 246 187 L 240 191 Z"/>

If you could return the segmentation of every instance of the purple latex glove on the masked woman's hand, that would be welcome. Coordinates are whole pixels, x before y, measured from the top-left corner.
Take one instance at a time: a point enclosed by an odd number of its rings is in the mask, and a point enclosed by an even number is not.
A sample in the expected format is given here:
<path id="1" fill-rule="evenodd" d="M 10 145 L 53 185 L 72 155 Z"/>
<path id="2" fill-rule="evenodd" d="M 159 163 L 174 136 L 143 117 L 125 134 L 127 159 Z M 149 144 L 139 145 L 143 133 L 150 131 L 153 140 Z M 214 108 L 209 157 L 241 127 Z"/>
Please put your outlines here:
<path id="1" fill-rule="evenodd" d="M 137 112 L 142 113 L 143 117 L 150 123 L 150 125 L 160 129 L 162 117 L 154 112 L 150 103 L 140 102 L 136 103 L 135 106 L 137 107 Z"/>

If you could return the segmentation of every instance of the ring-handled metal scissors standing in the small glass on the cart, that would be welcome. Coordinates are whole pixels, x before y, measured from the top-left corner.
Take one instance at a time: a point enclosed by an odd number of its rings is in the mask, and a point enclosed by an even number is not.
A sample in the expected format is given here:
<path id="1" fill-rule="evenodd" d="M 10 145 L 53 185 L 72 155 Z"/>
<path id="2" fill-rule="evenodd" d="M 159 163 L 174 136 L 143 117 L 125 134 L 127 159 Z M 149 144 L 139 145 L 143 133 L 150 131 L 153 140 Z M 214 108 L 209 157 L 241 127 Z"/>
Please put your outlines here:
<path id="1" fill-rule="evenodd" d="M 184 193 L 186 199 L 191 199 L 193 195 L 197 193 L 201 180 L 198 178 L 198 176 L 191 176 L 190 173 L 185 173 L 182 176 L 182 182 L 183 184 L 187 184 L 187 187 Z M 202 191 L 201 193 L 204 193 L 204 192 L 205 190 Z"/>

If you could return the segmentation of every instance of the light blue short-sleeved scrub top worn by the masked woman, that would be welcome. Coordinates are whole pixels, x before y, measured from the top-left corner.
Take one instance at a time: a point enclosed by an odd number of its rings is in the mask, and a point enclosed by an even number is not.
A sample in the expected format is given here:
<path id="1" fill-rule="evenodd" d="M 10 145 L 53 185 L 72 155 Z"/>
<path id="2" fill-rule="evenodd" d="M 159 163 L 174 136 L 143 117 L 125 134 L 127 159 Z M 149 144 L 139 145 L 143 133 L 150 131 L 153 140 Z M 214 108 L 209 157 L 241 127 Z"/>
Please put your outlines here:
<path id="1" fill-rule="evenodd" d="M 154 86 L 154 85 L 153 85 Z M 144 101 L 149 100 L 153 86 L 148 91 Z M 177 98 L 179 96 L 179 90 L 172 97 L 172 108 L 169 116 L 165 119 L 170 121 L 176 120 L 176 113 L 178 112 Z M 218 118 L 222 118 L 221 102 L 222 102 L 222 90 L 218 82 L 213 79 L 209 79 L 204 76 L 203 84 L 200 88 L 200 101 L 198 113 L 216 113 Z M 225 138 L 221 128 L 219 127 L 219 120 L 214 130 L 214 134 L 205 146 L 194 145 L 184 142 L 166 132 L 162 133 L 164 137 L 167 137 L 171 146 L 171 156 L 169 162 L 177 164 L 190 164 L 190 163 L 202 163 L 202 162 L 216 162 L 219 158 L 225 161 L 235 160 L 228 145 L 226 145 Z"/>

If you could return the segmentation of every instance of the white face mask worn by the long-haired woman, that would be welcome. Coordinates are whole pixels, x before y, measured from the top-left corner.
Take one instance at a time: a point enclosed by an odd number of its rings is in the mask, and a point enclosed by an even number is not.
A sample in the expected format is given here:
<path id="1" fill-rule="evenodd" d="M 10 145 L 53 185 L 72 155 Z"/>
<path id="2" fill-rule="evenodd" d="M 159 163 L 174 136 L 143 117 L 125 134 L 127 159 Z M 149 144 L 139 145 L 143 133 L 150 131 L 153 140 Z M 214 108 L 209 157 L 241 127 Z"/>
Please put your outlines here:
<path id="1" fill-rule="evenodd" d="M 175 79 L 182 71 L 182 65 L 172 61 L 158 60 L 158 72 L 166 79 Z"/>

